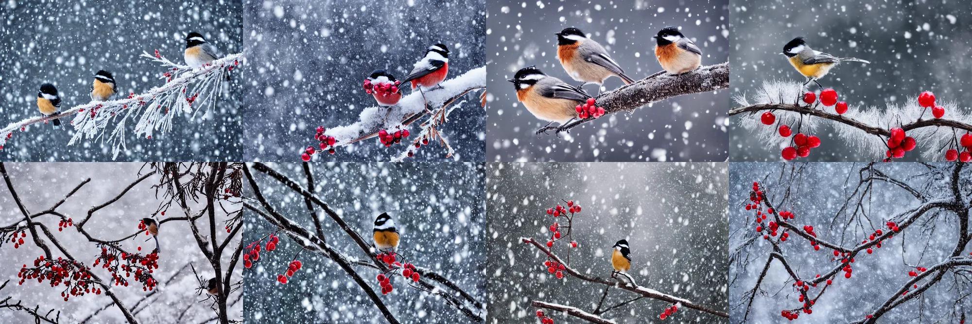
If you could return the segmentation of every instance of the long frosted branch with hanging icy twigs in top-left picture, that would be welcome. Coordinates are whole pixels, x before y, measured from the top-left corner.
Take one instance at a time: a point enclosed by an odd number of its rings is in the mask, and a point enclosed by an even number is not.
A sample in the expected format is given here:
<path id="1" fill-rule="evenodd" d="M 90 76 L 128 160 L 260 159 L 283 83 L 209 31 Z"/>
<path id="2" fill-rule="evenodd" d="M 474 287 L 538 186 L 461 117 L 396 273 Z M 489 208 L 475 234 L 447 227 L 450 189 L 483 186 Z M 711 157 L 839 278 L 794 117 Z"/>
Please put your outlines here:
<path id="1" fill-rule="evenodd" d="M 71 124 L 76 132 L 68 145 L 83 140 L 100 139 L 111 144 L 112 156 L 116 158 L 125 148 L 125 123 L 134 122 L 135 135 L 151 139 L 156 132 L 164 134 L 172 130 L 176 115 L 194 116 L 196 113 L 207 113 L 209 108 L 216 106 L 219 97 L 224 95 L 223 82 L 243 58 L 242 53 L 230 54 L 193 70 L 189 66 L 162 57 L 157 50 L 155 55 L 144 52 L 142 56 L 167 68 L 167 72 L 159 76 L 164 82 L 162 85 L 142 94 L 117 94 L 125 97 L 122 99 L 90 102 L 58 114 L 13 122 L 0 129 L 0 147 L 17 130 L 25 131 L 31 124 L 74 114 Z M 109 127 L 114 129 L 108 132 Z"/>

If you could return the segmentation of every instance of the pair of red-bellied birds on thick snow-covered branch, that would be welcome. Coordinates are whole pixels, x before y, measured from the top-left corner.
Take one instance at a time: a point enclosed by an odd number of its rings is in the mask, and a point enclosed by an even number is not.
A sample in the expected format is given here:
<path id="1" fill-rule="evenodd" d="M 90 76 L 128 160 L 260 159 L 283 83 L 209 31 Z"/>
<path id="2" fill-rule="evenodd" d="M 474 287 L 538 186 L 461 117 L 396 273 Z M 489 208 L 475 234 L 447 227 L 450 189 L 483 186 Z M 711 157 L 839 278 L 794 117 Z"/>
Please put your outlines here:
<path id="1" fill-rule="evenodd" d="M 392 91 L 372 91 L 368 89 L 378 106 L 395 106 L 401 100 L 400 84 L 412 83 L 412 89 L 418 87 L 419 91 L 432 89 L 435 86 L 442 87 L 439 83 L 445 80 L 449 73 L 449 49 L 442 44 L 435 44 L 426 49 L 426 54 L 422 59 L 412 66 L 412 71 L 405 79 L 398 81 L 391 73 L 386 70 L 375 70 L 368 76 L 366 84 L 394 84 Z M 391 86 L 390 86 L 391 87 Z M 367 88 L 367 86 L 366 86 Z M 423 96 L 425 96 L 423 92 Z"/>

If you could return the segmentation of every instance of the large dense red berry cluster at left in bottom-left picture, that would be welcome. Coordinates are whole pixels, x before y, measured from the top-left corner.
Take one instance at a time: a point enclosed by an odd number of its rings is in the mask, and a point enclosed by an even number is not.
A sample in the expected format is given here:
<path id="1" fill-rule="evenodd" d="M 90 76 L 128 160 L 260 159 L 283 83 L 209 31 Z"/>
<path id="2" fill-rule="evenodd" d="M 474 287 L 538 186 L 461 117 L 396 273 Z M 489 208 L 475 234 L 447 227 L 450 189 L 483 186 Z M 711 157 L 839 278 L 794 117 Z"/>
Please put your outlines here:
<path id="1" fill-rule="evenodd" d="M 44 256 L 41 255 L 34 260 L 33 268 L 27 268 L 27 265 L 23 265 L 20 272 L 17 273 L 17 277 L 20 278 L 19 284 L 21 285 L 24 281 L 33 279 L 37 279 L 38 283 L 49 280 L 52 287 L 63 284 L 65 288 L 61 292 L 61 297 L 64 298 L 65 302 L 71 296 L 84 296 L 87 293 L 101 294 L 101 288 L 93 286 L 90 268 L 85 267 L 80 262 L 61 257 L 58 257 L 57 260 L 45 260 Z"/>

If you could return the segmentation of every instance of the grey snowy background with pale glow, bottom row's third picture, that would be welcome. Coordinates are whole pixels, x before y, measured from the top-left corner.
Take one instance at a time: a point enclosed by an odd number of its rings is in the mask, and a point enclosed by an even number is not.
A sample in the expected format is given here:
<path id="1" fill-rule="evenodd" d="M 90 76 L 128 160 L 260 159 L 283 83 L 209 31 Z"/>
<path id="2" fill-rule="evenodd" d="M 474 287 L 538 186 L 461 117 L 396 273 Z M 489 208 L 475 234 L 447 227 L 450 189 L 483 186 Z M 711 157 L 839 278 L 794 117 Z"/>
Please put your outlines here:
<path id="1" fill-rule="evenodd" d="M 570 275 L 547 273 L 546 255 L 521 238 L 546 242 L 547 229 L 564 218 L 546 209 L 573 200 L 581 212 L 573 218 L 571 266 L 607 278 L 612 245 L 631 246 L 628 272 L 642 286 L 714 309 L 727 309 L 725 163 L 491 163 L 487 167 L 487 217 L 490 260 L 486 269 L 491 323 L 536 320 L 531 301 L 569 305 L 592 312 L 604 286 Z M 565 233 L 566 234 L 566 233 Z M 554 245 L 561 257 L 565 243 Z M 561 252 L 557 251 L 557 248 Z M 633 298 L 612 289 L 605 307 Z M 618 323 L 646 323 L 669 308 L 643 299 L 604 314 Z M 579 319 L 556 311 L 554 320 Z M 726 323 L 694 309 L 680 308 L 676 322 Z"/>

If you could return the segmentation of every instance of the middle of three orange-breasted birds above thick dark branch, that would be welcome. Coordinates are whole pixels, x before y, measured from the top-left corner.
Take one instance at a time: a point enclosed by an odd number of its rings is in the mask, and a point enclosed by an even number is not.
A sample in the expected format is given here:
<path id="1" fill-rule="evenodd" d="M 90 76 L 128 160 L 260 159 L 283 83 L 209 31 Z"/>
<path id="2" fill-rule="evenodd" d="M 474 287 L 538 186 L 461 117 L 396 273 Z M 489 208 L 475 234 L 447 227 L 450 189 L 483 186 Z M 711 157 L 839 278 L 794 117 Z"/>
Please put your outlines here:
<path id="1" fill-rule="evenodd" d="M 587 83 L 601 84 L 612 76 L 621 78 L 625 84 L 634 82 L 624 74 L 624 70 L 617 65 L 598 42 L 587 38 L 580 29 L 565 28 L 557 35 L 557 58 L 564 70 L 575 81 L 582 81 L 582 87 Z"/>

